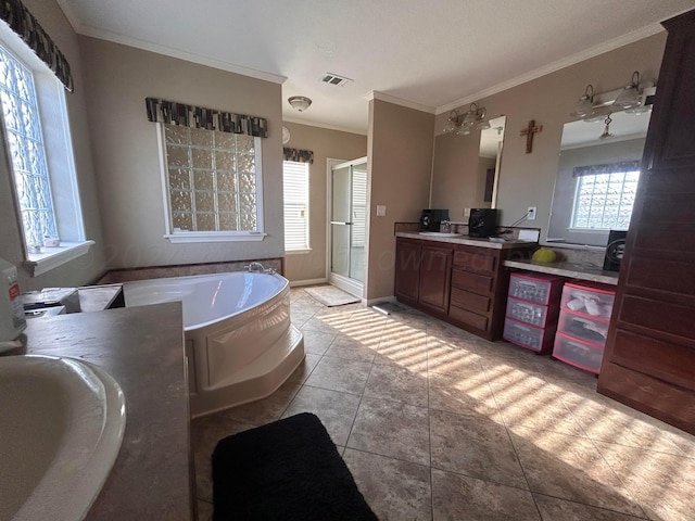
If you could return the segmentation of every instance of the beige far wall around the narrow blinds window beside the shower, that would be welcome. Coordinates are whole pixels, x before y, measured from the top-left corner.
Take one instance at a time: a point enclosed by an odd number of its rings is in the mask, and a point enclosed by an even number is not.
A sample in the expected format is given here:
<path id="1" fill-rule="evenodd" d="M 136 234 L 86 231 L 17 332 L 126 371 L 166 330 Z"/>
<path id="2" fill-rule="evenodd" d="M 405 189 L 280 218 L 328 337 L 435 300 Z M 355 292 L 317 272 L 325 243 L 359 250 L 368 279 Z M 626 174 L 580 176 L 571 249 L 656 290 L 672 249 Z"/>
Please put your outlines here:
<path id="1" fill-rule="evenodd" d="M 285 147 L 311 150 L 309 165 L 309 253 L 285 257 L 285 276 L 292 282 L 326 279 L 326 160 L 351 161 L 367 155 L 367 137 L 286 122 L 290 141 Z"/>

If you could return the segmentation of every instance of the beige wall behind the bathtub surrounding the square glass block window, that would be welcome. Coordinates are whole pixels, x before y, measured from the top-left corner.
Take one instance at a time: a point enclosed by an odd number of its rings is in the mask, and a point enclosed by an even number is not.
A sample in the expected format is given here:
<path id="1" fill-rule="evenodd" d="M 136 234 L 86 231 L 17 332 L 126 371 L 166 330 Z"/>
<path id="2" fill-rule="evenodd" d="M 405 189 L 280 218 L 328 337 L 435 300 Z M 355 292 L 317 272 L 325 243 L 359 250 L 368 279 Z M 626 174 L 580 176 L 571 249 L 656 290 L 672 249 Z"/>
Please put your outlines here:
<path id="1" fill-rule="evenodd" d="M 281 257 L 281 86 L 88 37 L 79 38 L 110 267 Z M 263 140 L 262 242 L 170 244 L 156 126 L 147 97 L 268 119 Z"/>

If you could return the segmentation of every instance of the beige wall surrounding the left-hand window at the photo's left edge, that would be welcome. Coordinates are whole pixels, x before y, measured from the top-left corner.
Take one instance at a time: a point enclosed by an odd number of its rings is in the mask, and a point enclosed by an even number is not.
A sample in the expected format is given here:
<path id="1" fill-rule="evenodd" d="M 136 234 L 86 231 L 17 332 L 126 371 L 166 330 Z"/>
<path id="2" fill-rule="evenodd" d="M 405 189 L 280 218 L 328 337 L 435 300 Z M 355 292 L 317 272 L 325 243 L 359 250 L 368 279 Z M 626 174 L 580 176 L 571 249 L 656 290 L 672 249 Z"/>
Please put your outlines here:
<path id="1" fill-rule="evenodd" d="M 87 126 L 85 103 L 86 87 L 83 79 L 83 63 L 79 56 L 77 35 L 54 0 L 25 0 L 29 12 L 36 16 L 43 29 L 67 59 L 75 84 L 73 93 L 66 92 L 75 168 L 81 199 L 83 218 L 87 239 L 94 240 L 88 255 L 52 269 L 39 277 L 29 277 L 22 266 L 24 246 L 22 231 L 14 200 L 12 198 L 12 170 L 8 160 L 0 161 L 0 256 L 18 268 L 22 291 L 50 287 L 83 285 L 98 279 L 105 269 L 101 220 L 94 170 L 90 149 L 90 131 Z M 0 144 L 3 155 L 4 141 Z"/>

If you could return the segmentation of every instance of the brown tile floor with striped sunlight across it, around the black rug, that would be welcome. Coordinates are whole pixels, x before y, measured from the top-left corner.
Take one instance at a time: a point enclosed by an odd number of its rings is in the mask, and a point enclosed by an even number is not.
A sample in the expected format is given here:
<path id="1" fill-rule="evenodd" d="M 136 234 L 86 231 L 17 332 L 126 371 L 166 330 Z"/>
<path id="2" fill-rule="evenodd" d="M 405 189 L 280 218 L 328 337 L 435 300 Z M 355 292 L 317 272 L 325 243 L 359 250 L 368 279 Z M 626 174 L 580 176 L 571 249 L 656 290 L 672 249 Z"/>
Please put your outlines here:
<path id="1" fill-rule="evenodd" d="M 303 365 L 192 421 L 201 520 L 216 442 L 302 411 L 381 520 L 695 520 L 695 436 L 597 394 L 594 376 L 410 308 L 291 300 Z"/>

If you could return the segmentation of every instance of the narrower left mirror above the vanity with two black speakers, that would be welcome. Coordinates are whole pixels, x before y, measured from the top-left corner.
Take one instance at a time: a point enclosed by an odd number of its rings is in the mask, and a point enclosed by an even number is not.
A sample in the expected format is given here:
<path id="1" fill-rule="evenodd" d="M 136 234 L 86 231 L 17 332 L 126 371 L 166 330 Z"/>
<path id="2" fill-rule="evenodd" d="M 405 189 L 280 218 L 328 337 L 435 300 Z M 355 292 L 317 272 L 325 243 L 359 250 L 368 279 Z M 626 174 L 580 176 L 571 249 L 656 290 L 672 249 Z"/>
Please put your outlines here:
<path id="1" fill-rule="evenodd" d="M 468 223 L 464 208 L 494 208 L 506 116 L 469 136 L 442 134 L 434 140 L 432 208 L 448 208 L 454 223 Z"/>

